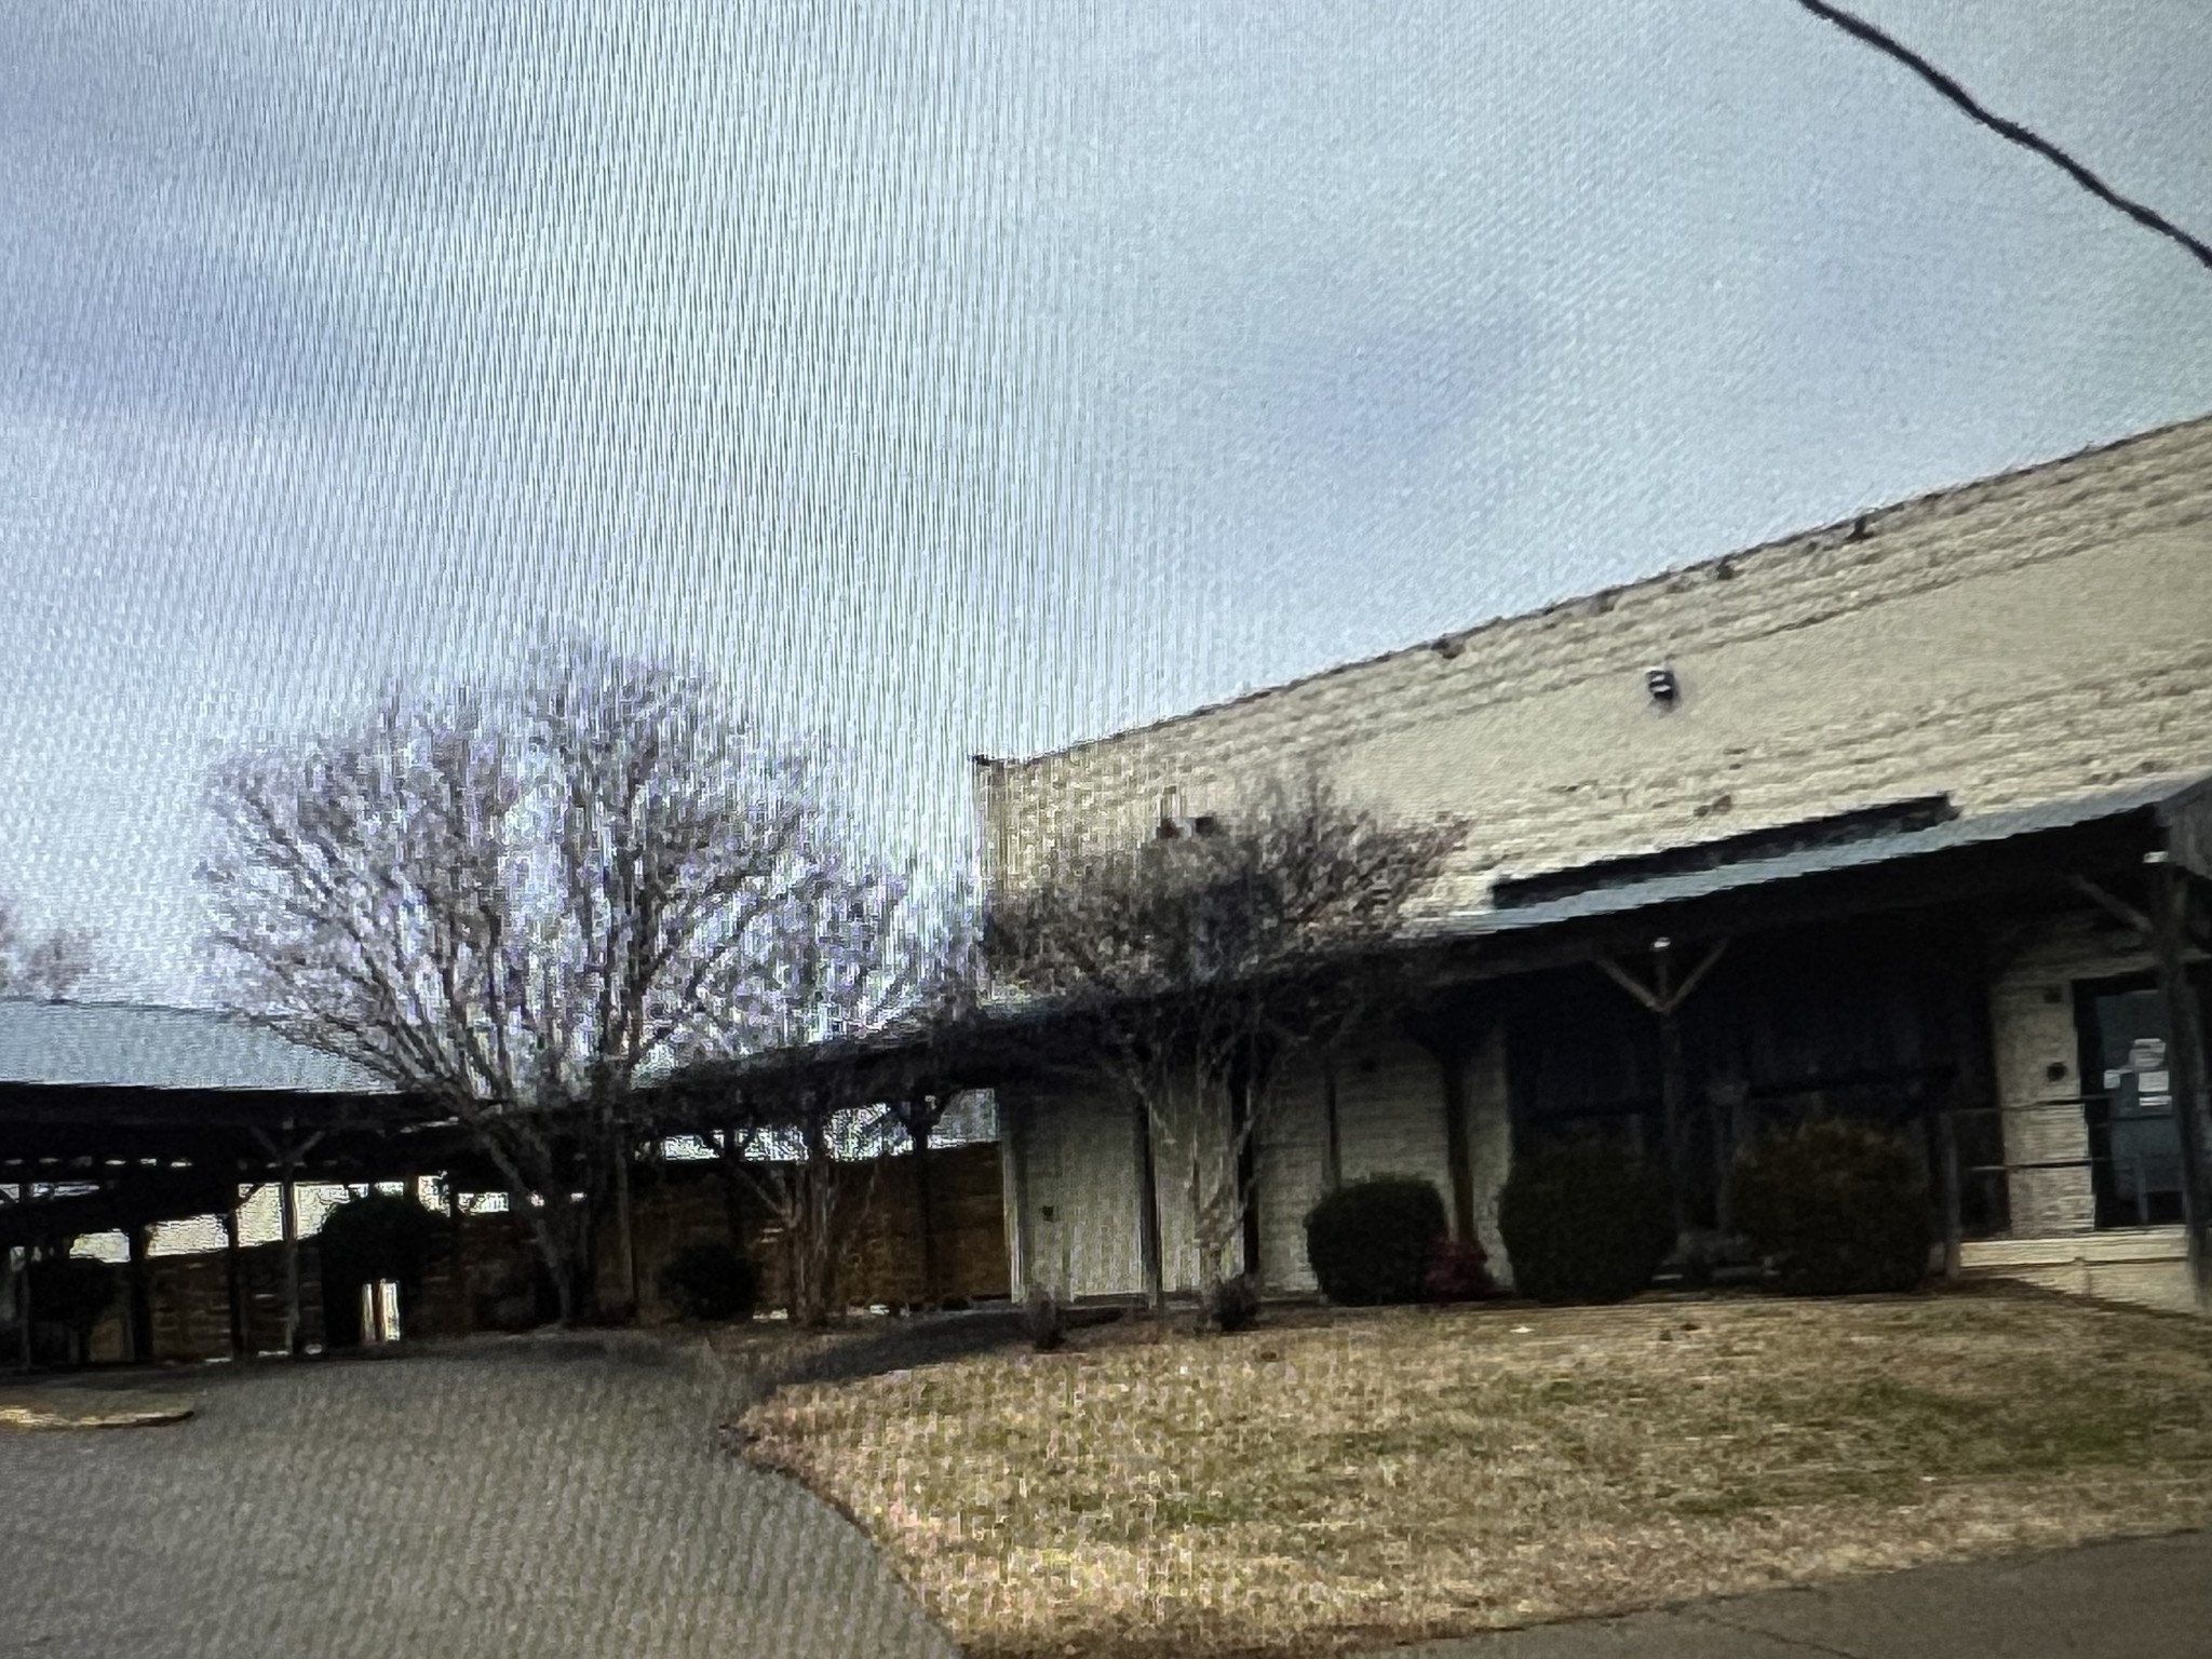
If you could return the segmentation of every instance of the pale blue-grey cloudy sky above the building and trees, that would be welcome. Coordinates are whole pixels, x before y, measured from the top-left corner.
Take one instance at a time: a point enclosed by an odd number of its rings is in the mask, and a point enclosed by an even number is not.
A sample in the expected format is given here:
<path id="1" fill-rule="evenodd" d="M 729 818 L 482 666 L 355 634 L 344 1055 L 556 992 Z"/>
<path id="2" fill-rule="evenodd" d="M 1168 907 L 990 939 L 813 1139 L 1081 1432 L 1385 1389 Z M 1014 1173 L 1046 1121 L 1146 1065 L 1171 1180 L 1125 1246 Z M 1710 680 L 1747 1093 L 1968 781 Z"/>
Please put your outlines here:
<path id="1" fill-rule="evenodd" d="M 2201 0 L 1865 0 L 2212 234 Z M 553 633 L 1031 754 L 2212 411 L 2212 272 L 1790 0 L 0 0 L 0 894 Z"/>

